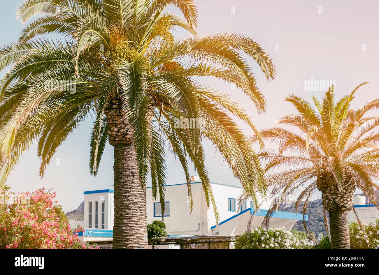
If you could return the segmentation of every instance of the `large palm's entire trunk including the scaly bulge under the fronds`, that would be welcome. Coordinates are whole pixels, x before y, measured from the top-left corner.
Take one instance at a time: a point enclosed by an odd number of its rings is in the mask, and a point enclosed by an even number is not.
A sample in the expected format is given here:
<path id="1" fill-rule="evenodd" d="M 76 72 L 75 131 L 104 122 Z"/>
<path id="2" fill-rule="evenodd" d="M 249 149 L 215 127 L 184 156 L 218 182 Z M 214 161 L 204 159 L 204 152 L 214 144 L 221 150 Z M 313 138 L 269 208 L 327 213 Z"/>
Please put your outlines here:
<path id="1" fill-rule="evenodd" d="M 114 147 L 113 248 L 147 248 L 146 190 L 139 180 L 134 130 L 117 95 L 106 105 L 106 117 Z"/>

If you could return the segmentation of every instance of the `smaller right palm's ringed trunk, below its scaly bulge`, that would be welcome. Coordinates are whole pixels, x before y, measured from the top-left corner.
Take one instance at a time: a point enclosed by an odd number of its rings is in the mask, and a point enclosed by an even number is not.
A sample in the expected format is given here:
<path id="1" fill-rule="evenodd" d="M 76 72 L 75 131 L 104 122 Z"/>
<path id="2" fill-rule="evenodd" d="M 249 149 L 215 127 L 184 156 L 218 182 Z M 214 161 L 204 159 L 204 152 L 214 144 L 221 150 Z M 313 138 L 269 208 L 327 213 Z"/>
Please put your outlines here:
<path id="1" fill-rule="evenodd" d="M 332 249 L 350 249 L 348 212 L 338 209 L 329 210 Z"/>

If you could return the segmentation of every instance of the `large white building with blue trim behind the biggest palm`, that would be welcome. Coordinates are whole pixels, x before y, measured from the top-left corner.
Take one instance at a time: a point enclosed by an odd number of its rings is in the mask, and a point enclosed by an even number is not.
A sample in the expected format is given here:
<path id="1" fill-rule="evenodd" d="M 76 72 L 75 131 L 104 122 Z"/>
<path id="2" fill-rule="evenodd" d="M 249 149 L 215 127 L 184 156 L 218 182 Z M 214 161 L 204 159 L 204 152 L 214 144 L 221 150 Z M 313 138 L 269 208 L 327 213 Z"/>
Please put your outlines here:
<path id="1" fill-rule="evenodd" d="M 247 200 L 242 209 L 237 209 L 238 197 L 243 189 L 226 184 L 211 183 L 215 202 L 219 211 L 219 226 L 213 207 L 207 208 L 204 190 L 200 182 L 191 183 L 193 194 L 193 211 L 189 212 L 189 198 L 186 183 L 166 186 L 164 223 L 169 236 L 237 236 L 246 231 L 247 222 L 254 209 L 252 202 Z M 147 188 L 147 223 L 162 220 L 159 197 L 152 197 L 151 187 Z M 80 224 L 85 229 L 84 241 L 111 241 L 113 235 L 113 190 L 105 189 L 87 191 L 85 195 L 84 221 L 72 221 L 76 227 Z M 255 214 L 253 227 L 262 224 L 269 203 L 262 203 L 260 211 Z M 306 216 L 307 220 L 308 217 Z M 270 226 L 285 227 L 291 230 L 294 223 L 302 220 L 302 214 L 277 211 L 271 219 Z"/>

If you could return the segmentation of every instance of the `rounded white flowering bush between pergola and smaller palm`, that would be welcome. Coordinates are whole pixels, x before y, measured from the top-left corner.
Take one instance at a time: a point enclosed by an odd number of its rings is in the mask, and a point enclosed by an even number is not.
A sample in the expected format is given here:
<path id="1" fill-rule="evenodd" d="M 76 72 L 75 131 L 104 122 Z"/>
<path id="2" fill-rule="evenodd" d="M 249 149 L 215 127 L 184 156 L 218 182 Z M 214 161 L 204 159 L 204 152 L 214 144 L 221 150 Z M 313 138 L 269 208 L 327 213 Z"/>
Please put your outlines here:
<path id="1" fill-rule="evenodd" d="M 313 241 L 295 236 L 291 231 L 282 228 L 256 227 L 249 236 L 243 233 L 236 239 L 235 249 L 304 249 L 312 248 Z"/>

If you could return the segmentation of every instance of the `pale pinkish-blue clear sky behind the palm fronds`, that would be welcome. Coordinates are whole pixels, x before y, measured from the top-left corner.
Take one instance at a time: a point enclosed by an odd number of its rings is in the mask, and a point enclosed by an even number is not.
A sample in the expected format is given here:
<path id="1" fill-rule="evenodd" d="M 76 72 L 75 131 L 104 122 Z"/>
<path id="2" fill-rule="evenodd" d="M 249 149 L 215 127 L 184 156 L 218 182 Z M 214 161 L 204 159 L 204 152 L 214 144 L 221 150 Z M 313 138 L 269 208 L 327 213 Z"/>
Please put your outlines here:
<path id="1" fill-rule="evenodd" d="M 0 0 L 0 45 L 17 40 L 25 25 L 15 17 L 21 0 Z M 323 97 L 324 91 L 305 89 L 307 81 L 332 81 L 339 98 L 360 88 L 353 108 L 377 97 L 379 88 L 379 36 L 377 26 L 379 2 L 348 0 L 196 0 L 199 9 L 199 33 L 235 32 L 259 42 L 272 56 L 277 77 L 267 83 L 252 59 L 257 84 L 266 96 L 267 111 L 258 114 L 238 89 L 216 80 L 205 80 L 210 86 L 229 93 L 247 109 L 259 129 L 271 127 L 280 117 L 294 113 L 284 98 L 296 94 L 310 100 Z M 175 33 L 174 33 L 175 34 Z M 176 33 L 182 35 L 181 31 Z M 84 191 L 110 189 L 113 184 L 113 147 L 105 149 L 97 177 L 89 173 L 89 135 L 92 120 L 80 125 L 57 150 L 43 179 L 39 178 L 36 147 L 25 154 L 8 179 L 14 192 L 33 191 L 44 186 L 56 191 L 64 211 L 77 208 Z M 251 129 L 243 126 L 247 135 Z M 210 180 L 239 185 L 215 148 L 205 143 Z M 180 164 L 168 155 L 168 184 L 184 183 Z M 191 174 L 196 175 L 194 168 Z M 316 194 L 314 198 L 320 197 Z"/>

